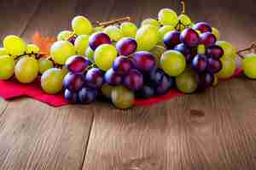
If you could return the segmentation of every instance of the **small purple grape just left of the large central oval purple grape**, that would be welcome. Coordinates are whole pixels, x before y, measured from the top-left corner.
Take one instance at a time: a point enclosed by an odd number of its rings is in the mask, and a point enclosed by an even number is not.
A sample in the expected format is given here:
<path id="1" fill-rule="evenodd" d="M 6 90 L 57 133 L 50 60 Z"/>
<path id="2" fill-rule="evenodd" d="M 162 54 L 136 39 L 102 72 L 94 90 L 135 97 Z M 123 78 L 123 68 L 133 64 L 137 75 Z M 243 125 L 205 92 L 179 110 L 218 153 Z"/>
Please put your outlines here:
<path id="1" fill-rule="evenodd" d="M 119 75 L 125 75 L 132 67 L 131 59 L 125 56 L 119 56 L 113 61 L 113 70 Z"/>

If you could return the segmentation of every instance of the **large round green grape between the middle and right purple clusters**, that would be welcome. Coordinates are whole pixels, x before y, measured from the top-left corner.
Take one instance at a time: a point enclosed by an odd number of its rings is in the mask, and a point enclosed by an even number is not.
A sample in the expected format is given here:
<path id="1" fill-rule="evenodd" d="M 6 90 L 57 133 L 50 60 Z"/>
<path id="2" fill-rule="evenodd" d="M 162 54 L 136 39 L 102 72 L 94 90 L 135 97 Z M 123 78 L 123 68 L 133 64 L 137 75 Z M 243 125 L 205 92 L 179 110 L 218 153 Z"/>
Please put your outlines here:
<path id="1" fill-rule="evenodd" d="M 170 77 L 177 77 L 185 70 L 186 59 L 180 52 L 168 50 L 162 54 L 160 65 Z"/>

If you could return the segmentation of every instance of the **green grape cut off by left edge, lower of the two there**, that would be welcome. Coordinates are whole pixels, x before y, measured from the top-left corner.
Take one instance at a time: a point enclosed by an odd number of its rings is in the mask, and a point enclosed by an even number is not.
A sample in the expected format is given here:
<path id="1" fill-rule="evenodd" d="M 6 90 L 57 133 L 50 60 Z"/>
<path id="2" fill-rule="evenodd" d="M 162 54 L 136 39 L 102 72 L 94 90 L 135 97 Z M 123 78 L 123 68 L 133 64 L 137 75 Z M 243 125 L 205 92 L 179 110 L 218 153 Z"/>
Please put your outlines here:
<path id="1" fill-rule="evenodd" d="M 9 55 L 0 56 L 0 80 L 8 80 L 15 73 L 15 59 Z"/>

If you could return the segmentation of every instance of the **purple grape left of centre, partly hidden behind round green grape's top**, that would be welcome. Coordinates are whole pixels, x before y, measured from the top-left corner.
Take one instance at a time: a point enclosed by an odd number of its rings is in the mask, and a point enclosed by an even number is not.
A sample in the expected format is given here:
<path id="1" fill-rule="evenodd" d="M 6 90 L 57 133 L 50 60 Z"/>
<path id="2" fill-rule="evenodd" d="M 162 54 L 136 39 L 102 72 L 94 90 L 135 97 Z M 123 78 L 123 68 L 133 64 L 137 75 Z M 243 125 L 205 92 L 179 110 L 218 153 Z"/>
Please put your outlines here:
<path id="1" fill-rule="evenodd" d="M 103 32 L 96 32 L 89 38 L 89 45 L 92 50 L 96 50 L 102 44 L 111 44 L 110 37 Z"/>

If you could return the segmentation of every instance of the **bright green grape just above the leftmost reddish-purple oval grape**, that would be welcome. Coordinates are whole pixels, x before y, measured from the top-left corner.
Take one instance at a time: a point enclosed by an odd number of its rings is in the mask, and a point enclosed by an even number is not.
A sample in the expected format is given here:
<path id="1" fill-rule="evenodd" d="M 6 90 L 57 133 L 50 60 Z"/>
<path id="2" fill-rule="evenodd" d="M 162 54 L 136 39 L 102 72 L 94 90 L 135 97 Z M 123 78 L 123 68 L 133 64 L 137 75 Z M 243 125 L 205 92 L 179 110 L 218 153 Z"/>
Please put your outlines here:
<path id="1" fill-rule="evenodd" d="M 64 65 L 66 60 L 75 54 L 75 48 L 71 42 L 55 42 L 50 48 L 50 56 L 59 65 Z"/>

